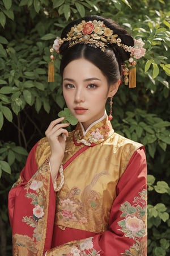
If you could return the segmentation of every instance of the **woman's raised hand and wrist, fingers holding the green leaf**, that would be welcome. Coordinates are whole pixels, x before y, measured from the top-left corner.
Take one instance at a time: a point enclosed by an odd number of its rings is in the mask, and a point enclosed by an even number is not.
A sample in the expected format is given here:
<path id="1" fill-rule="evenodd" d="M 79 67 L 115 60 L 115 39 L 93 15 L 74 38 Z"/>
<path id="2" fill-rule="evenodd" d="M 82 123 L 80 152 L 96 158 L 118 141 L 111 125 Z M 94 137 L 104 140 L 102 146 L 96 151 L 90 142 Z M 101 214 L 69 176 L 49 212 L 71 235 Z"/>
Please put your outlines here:
<path id="1" fill-rule="evenodd" d="M 46 138 L 48 139 L 51 155 L 49 158 L 51 171 L 52 171 L 52 180 L 56 179 L 59 166 L 62 163 L 62 159 L 65 152 L 66 138 L 69 133 L 65 127 L 69 126 L 69 123 L 61 123 L 64 117 L 57 118 L 50 123 L 48 129 L 45 131 Z"/>

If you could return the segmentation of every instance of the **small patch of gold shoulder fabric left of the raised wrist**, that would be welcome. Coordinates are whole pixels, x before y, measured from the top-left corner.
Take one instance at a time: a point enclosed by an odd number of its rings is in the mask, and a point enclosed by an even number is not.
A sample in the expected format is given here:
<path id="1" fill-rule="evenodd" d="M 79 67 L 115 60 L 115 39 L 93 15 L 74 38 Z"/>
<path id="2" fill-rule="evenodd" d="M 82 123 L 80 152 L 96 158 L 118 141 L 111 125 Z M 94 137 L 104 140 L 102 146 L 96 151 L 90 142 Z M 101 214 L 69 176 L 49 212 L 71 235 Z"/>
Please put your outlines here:
<path id="1" fill-rule="evenodd" d="M 36 148 L 36 162 L 37 162 L 37 167 L 39 168 L 42 163 L 45 162 L 45 160 L 49 157 L 50 155 L 50 146 L 48 143 L 48 140 L 46 137 L 40 139 L 37 148 Z"/>

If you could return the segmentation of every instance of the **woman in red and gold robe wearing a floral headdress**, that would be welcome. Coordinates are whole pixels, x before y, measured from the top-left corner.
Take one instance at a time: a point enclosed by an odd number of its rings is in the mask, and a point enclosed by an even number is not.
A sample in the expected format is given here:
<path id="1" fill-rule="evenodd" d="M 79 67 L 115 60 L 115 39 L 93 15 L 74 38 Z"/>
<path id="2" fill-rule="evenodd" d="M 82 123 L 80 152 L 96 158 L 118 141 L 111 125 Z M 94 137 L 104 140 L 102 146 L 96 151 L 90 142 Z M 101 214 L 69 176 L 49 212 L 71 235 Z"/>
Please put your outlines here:
<path id="1" fill-rule="evenodd" d="M 145 54 L 138 43 L 135 56 L 128 32 L 100 16 L 70 23 L 55 40 L 79 123 L 68 133 L 57 118 L 29 153 L 9 193 L 13 255 L 147 255 L 145 149 L 114 133 L 105 112 L 127 82 L 124 61 Z"/>

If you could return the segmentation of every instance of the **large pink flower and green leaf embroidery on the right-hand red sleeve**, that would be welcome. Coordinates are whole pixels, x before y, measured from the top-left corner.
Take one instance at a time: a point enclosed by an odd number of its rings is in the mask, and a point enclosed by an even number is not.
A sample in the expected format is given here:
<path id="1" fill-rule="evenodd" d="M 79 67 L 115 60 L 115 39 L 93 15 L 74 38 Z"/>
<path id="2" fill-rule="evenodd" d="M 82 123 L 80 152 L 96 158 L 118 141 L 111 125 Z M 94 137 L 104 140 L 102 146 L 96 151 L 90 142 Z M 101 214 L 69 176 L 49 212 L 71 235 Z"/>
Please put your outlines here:
<path id="1" fill-rule="evenodd" d="M 126 250 L 126 252 L 121 255 L 146 255 L 146 241 L 145 239 L 142 240 L 143 237 L 146 237 L 146 202 L 147 191 L 143 189 L 142 192 L 139 192 L 139 196 L 134 198 L 133 205 L 128 201 L 121 205 L 121 217 L 125 218 L 119 221 L 118 225 L 121 226 L 120 230 L 125 234 L 125 237 L 132 238 L 135 242 L 133 246 L 130 247 L 130 250 Z"/>

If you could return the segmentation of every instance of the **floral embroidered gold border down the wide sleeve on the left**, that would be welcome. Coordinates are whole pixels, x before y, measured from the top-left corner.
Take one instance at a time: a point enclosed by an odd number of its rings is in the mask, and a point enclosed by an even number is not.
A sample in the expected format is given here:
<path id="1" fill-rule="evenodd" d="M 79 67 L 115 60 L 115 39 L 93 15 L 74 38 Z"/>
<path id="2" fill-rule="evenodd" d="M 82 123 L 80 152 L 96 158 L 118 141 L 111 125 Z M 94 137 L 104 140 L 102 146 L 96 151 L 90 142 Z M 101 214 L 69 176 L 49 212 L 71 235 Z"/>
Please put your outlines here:
<path id="1" fill-rule="evenodd" d="M 25 197 L 31 199 L 32 214 L 23 216 L 22 221 L 32 229 L 32 237 L 22 234 L 14 234 L 13 251 L 15 255 L 42 255 L 45 235 L 46 217 L 48 214 L 49 179 L 48 160 L 32 176 L 31 181 L 25 185 Z M 44 232 L 42 233 L 42 230 Z"/>

